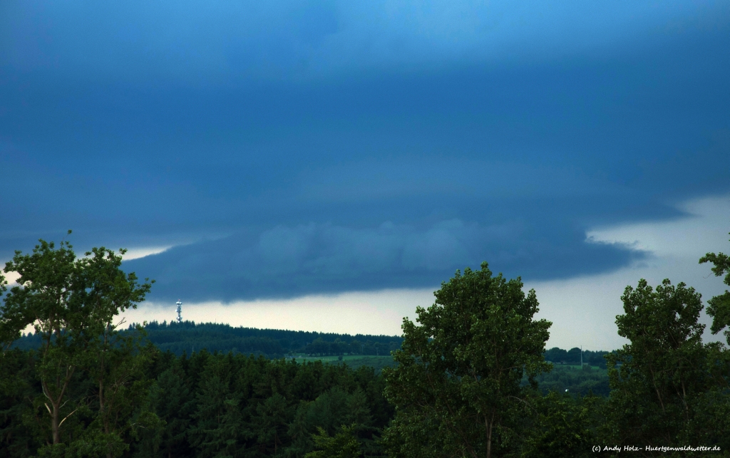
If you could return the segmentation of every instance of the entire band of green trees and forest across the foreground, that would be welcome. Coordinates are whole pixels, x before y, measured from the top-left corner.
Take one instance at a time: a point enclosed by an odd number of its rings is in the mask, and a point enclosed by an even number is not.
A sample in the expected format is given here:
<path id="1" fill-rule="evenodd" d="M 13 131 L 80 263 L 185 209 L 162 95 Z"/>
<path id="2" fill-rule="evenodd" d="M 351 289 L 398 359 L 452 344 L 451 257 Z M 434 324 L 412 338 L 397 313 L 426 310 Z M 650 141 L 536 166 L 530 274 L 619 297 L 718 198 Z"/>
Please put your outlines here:
<path id="1" fill-rule="evenodd" d="M 0 457 L 730 456 L 730 351 L 702 341 L 701 296 L 683 283 L 626 287 L 616 324 L 629 344 L 602 355 L 604 397 L 588 386 L 602 369 L 546 352 L 536 292 L 486 263 L 404 319 L 397 365 L 379 376 L 161 352 L 118 321 L 153 284 L 121 271 L 121 254 L 40 241 L 7 263 L 20 279 L 0 280 Z M 730 285 L 727 255 L 700 262 Z M 707 304 L 730 345 L 730 292 Z M 39 346 L 14 348 L 28 325 Z M 577 373 L 583 392 L 558 391 Z"/>

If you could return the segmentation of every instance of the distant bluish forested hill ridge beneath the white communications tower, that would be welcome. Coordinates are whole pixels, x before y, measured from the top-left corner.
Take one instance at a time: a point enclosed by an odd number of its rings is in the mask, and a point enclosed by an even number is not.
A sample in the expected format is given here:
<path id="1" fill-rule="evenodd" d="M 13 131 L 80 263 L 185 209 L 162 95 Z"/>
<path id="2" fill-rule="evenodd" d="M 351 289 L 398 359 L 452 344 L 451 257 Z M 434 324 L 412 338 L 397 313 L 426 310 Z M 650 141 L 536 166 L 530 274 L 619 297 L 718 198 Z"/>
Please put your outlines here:
<path id="1" fill-rule="evenodd" d="M 130 327 L 131 328 L 131 327 Z M 317 333 L 255 327 L 232 327 L 218 323 L 185 321 L 151 322 L 145 326 L 147 338 L 161 351 L 180 356 L 185 352 L 207 349 L 209 352 L 262 354 L 277 358 L 290 353 L 313 355 L 364 354 L 387 355 L 399 349 L 402 339 L 396 335 L 363 335 Z M 16 342 L 20 349 L 37 348 L 35 335 L 26 335 Z"/>

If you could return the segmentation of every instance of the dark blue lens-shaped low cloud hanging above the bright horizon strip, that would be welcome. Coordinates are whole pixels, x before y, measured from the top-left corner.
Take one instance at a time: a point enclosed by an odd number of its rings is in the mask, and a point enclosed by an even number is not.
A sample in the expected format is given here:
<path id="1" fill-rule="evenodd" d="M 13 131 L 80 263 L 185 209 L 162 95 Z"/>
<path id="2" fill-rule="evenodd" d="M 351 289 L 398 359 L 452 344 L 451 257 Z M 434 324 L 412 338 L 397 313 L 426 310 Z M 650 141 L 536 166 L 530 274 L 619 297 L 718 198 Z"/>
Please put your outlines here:
<path id="1" fill-rule="evenodd" d="M 377 228 L 310 223 L 174 247 L 127 261 L 124 267 L 158 281 L 151 300 L 184 296 L 226 302 L 437 287 L 456 269 L 478 268 L 484 260 L 495 273 L 542 279 L 606 271 L 645 256 L 617 244 L 570 238 L 552 242 L 520 239 L 509 226 L 461 220 L 422 230 L 390 222 Z"/>

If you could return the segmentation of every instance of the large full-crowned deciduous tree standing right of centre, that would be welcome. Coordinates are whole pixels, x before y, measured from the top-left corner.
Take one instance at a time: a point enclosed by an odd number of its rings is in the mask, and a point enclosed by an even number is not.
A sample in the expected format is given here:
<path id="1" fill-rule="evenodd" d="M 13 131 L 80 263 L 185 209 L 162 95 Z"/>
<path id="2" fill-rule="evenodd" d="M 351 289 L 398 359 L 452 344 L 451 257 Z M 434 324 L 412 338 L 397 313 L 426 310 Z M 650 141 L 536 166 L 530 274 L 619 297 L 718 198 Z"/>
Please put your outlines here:
<path id="1" fill-rule="evenodd" d="M 403 321 L 397 368 L 385 369 L 396 418 L 385 444 L 396 457 L 491 457 L 510 449 L 532 380 L 549 366 L 542 357 L 550 322 L 533 319 L 534 290 L 520 279 L 457 271 L 435 292 L 436 303 Z"/>

